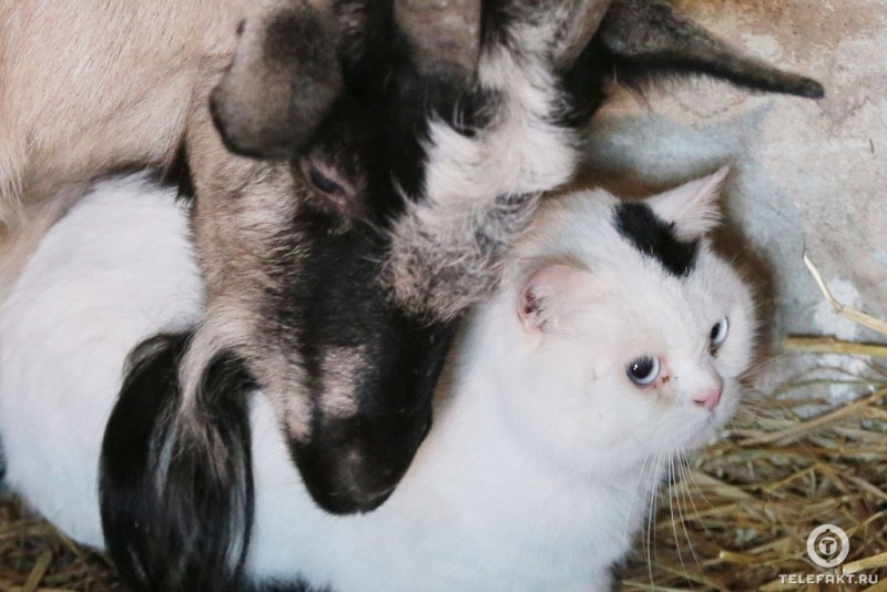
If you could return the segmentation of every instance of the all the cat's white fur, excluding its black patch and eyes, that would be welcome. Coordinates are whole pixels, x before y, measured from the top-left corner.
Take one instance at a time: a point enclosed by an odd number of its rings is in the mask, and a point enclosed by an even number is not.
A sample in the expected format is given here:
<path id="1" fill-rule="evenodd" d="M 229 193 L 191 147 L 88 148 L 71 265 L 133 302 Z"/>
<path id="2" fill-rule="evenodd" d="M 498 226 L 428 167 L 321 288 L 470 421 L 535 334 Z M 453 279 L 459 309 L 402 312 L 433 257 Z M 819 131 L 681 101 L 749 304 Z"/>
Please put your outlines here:
<path id="1" fill-rule="evenodd" d="M 650 203 L 695 236 L 722 178 Z M 318 510 L 271 405 L 253 397 L 252 574 L 343 591 L 608 588 L 666 463 L 731 416 L 753 333 L 747 287 L 706 241 L 687 277 L 670 275 L 615 229 L 616 203 L 593 191 L 543 204 L 502 289 L 466 324 L 428 439 L 378 510 Z M 100 184 L 0 313 L 8 482 L 85 543 L 102 547 L 96 461 L 126 351 L 200 316 L 186 234 L 170 191 L 137 176 Z M 625 366 L 644 355 L 664 374 L 639 388 Z M 694 402 L 717 385 L 714 410 Z"/>

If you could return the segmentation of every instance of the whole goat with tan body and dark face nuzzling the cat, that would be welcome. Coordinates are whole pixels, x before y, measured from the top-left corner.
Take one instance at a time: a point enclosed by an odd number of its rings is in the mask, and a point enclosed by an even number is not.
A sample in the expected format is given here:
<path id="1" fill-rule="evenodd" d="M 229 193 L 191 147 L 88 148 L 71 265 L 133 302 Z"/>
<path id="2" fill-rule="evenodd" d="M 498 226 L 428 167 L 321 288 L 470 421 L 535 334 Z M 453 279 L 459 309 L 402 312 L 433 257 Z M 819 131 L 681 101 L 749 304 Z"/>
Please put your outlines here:
<path id="1" fill-rule="evenodd" d="M 162 497 L 140 471 L 245 462 L 238 436 L 207 421 L 222 370 L 234 399 L 255 380 L 273 401 L 322 507 L 377 507 L 428 429 L 457 320 L 498 286 L 541 195 L 570 180 L 608 81 L 702 72 L 822 95 L 661 2 L 106 4 L 0 9 L 2 252 L 14 253 L 0 273 L 24 259 L 17 236 L 34 242 L 75 200 L 47 207 L 60 187 L 183 155 L 207 316 L 181 356 L 153 351 L 182 390 L 165 431 L 112 426 L 126 436 L 104 465 L 121 508 Z M 228 494 L 212 486 L 195 486 L 195 507 Z"/>

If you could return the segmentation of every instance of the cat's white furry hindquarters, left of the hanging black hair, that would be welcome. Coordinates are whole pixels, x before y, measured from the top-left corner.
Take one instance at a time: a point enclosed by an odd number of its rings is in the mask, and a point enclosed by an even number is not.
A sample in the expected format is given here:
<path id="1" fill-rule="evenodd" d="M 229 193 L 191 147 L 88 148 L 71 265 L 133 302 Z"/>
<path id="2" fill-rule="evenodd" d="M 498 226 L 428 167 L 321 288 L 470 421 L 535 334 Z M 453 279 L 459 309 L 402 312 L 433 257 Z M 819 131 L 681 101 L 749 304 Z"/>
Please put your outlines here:
<path id="1" fill-rule="evenodd" d="M 202 314 L 187 218 L 143 175 L 99 184 L 43 238 L 0 308 L 6 481 L 101 544 L 98 466 L 136 340 Z"/>

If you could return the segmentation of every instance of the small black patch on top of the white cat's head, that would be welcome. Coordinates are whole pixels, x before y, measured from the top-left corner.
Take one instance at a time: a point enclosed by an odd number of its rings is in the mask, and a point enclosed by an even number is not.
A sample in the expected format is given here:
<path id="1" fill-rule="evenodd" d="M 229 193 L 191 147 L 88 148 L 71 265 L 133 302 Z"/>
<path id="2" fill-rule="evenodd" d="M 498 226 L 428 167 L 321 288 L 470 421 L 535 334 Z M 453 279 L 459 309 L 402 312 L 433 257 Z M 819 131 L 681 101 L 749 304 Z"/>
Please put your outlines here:
<path id="1" fill-rule="evenodd" d="M 681 241 L 674 223 L 659 217 L 646 204 L 624 203 L 616 206 L 615 225 L 638 251 L 659 261 L 666 272 L 686 277 L 696 263 L 699 241 Z"/>

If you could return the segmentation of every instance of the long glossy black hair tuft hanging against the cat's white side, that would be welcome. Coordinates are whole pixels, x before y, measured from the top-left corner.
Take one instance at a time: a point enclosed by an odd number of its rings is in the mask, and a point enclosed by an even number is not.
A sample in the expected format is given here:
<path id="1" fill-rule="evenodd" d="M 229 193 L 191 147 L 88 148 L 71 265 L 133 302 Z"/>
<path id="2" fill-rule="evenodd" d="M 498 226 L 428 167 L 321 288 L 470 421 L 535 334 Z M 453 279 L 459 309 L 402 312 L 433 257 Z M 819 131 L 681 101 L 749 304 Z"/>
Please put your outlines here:
<path id="1" fill-rule="evenodd" d="M 102 529 L 134 590 L 242 583 L 254 500 L 251 381 L 237 360 L 221 358 L 195 400 L 184 400 L 179 365 L 188 340 L 157 336 L 134 350 L 102 441 Z"/>

